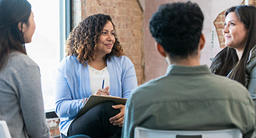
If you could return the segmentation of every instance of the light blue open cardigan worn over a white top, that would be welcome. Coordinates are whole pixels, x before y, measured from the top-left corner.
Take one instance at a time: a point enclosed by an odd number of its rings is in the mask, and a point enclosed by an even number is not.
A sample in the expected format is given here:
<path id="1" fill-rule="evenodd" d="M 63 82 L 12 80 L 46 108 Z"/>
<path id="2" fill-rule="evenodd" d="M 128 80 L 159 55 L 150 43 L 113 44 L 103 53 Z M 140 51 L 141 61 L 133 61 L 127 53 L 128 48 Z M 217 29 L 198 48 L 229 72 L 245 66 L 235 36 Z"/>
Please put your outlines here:
<path id="1" fill-rule="evenodd" d="M 107 60 L 110 95 L 128 98 L 138 86 L 134 64 L 128 57 L 111 57 Z M 55 74 L 55 112 L 60 117 L 60 132 L 67 135 L 71 122 L 77 117 L 82 98 L 91 95 L 88 66 L 79 63 L 77 57 L 62 60 Z"/>

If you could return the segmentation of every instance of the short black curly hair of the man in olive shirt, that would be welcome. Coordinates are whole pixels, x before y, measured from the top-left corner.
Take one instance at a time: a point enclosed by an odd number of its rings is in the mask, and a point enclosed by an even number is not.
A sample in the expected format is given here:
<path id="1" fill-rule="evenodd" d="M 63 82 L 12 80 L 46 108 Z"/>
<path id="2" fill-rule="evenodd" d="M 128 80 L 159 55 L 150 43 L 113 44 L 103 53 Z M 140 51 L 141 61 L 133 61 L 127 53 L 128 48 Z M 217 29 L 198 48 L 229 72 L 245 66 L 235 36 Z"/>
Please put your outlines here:
<path id="1" fill-rule="evenodd" d="M 196 54 L 203 29 L 203 12 L 196 3 L 166 3 L 158 8 L 149 22 L 156 42 L 171 59 Z"/>

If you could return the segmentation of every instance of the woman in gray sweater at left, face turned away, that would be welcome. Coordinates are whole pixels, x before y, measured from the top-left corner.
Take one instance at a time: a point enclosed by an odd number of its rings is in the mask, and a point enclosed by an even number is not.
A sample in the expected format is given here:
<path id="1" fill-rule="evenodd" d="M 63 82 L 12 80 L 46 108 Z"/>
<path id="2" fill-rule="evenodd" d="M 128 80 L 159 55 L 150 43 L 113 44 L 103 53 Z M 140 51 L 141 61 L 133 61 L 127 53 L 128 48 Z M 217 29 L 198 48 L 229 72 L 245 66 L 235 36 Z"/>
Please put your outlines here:
<path id="1" fill-rule="evenodd" d="M 0 13 L 0 120 L 13 138 L 48 138 L 39 67 L 23 46 L 35 32 L 30 3 L 0 0 Z"/>

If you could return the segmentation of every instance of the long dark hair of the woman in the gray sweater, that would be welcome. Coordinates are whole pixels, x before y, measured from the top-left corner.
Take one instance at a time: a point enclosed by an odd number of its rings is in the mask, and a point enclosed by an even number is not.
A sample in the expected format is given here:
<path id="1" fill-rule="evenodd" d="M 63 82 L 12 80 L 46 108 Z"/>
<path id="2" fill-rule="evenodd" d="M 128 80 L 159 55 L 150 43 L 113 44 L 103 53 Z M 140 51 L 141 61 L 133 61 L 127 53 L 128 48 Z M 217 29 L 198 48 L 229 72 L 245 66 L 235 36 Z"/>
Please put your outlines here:
<path id="1" fill-rule="evenodd" d="M 22 24 L 28 24 L 31 13 L 26 0 L 0 0 L 0 70 L 6 65 L 10 52 L 18 51 L 26 55 L 22 34 Z M 21 22 L 21 30 L 18 23 Z"/>

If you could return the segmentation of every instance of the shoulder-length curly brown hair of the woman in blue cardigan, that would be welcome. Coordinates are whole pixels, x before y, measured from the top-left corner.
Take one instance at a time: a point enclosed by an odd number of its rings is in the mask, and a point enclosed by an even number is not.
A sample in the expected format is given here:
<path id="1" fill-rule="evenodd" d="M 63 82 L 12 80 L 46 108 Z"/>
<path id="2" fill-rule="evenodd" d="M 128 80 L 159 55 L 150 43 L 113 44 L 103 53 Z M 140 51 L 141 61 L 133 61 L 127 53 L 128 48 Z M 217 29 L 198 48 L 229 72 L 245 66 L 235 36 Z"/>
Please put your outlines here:
<path id="1" fill-rule="evenodd" d="M 116 32 L 116 26 L 113 24 L 109 15 L 94 14 L 86 17 L 69 34 L 66 44 L 66 56 L 75 55 L 79 63 L 84 64 L 84 66 L 86 66 L 87 63 L 94 61 L 97 56 L 97 42 L 108 21 L 111 21 L 113 29 Z M 116 33 L 114 34 L 114 37 L 116 41 L 113 44 L 113 48 L 104 59 L 110 60 L 110 57 L 113 55 L 116 55 L 117 57 L 125 55 Z"/>

